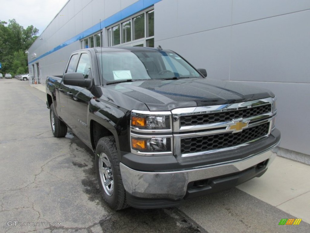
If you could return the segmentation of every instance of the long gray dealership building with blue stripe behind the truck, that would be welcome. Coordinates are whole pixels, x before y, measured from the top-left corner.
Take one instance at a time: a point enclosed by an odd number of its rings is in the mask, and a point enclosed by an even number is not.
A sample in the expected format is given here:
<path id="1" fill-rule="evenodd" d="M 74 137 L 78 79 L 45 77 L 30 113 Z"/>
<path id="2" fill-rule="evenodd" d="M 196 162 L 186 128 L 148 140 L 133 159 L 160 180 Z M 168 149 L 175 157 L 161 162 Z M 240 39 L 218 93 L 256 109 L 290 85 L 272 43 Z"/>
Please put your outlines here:
<path id="1" fill-rule="evenodd" d="M 310 164 L 309 22 L 309 0 L 69 0 L 28 49 L 29 73 L 62 75 L 82 48 L 160 45 L 207 78 L 272 90 L 276 152 Z"/>

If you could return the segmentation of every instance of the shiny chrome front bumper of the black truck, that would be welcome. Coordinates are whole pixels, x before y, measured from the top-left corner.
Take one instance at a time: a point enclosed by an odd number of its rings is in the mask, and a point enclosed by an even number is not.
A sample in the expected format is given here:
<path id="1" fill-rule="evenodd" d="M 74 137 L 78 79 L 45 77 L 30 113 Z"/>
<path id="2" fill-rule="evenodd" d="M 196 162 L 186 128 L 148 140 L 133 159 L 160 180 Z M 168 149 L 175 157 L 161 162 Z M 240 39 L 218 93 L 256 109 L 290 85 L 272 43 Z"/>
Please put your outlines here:
<path id="1" fill-rule="evenodd" d="M 125 190 L 137 198 L 147 199 L 183 199 L 189 182 L 224 176 L 240 171 L 268 160 L 269 164 L 276 157 L 269 151 L 251 155 L 240 161 L 230 161 L 225 164 L 215 164 L 207 167 L 197 167 L 190 170 L 176 170 L 167 172 L 145 172 L 133 170 L 120 163 Z"/>

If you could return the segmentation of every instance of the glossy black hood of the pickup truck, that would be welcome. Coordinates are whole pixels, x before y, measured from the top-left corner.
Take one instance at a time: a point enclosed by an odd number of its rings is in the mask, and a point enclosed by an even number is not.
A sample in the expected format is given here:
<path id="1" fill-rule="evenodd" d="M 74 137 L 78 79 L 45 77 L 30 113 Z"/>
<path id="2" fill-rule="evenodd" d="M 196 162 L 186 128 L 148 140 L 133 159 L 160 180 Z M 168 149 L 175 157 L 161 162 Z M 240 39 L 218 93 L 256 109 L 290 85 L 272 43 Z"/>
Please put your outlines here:
<path id="1" fill-rule="evenodd" d="M 209 78 L 135 81 L 108 85 L 107 88 L 145 103 L 150 111 L 274 97 L 274 94 L 266 89 Z"/>

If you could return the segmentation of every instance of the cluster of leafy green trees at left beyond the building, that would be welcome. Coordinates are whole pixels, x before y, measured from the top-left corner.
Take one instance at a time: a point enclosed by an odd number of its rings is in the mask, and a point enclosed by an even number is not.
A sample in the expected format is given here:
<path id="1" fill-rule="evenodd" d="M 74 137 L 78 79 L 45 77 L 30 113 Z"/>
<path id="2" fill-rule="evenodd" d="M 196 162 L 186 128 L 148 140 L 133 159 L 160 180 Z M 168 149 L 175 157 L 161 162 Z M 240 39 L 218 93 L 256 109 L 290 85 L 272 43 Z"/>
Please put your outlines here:
<path id="1" fill-rule="evenodd" d="M 9 20 L 9 23 L 0 21 L 0 73 L 16 75 L 28 72 L 25 51 L 37 39 L 38 32 L 33 25 L 24 29 L 15 19 Z"/>

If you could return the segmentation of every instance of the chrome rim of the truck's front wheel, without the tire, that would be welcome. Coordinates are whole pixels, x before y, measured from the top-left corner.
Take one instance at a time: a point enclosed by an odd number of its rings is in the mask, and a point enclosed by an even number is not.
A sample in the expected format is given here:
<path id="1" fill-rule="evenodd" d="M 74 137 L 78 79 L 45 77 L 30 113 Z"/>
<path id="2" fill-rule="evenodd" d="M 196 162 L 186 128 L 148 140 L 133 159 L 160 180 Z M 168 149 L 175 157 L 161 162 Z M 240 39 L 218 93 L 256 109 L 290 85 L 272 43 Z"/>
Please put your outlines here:
<path id="1" fill-rule="evenodd" d="M 101 153 L 99 156 L 99 172 L 100 180 L 104 191 L 109 196 L 113 194 L 113 174 L 110 161 L 105 153 Z"/>

